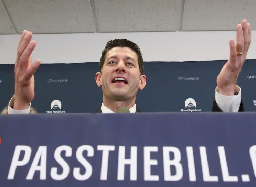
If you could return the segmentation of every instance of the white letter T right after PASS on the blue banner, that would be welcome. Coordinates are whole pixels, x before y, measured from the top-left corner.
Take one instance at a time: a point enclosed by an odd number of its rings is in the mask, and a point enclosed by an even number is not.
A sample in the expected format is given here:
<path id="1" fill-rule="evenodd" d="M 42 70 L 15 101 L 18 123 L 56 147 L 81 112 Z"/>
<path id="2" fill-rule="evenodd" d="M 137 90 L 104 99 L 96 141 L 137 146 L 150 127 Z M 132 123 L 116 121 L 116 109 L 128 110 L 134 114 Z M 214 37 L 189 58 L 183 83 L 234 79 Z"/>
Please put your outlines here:
<path id="1" fill-rule="evenodd" d="M 100 180 L 108 178 L 108 155 L 109 151 L 115 151 L 114 145 L 98 145 L 97 150 L 102 151 L 102 166 L 100 169 Z"/>

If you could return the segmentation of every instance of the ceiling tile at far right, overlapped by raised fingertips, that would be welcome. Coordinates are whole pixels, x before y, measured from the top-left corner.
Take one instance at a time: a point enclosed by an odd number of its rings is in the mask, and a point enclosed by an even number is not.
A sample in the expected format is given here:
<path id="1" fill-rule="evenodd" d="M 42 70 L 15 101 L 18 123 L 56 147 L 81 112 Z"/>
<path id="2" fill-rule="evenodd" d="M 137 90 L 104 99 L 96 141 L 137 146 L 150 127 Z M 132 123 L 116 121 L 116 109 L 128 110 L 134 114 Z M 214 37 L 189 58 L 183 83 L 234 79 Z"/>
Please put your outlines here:
<path id="1" fill-rule="evenodd" d="M 246 19 L 256 29 L 255 0 L 185 0 L 182 30 L 235 30 Z"/>

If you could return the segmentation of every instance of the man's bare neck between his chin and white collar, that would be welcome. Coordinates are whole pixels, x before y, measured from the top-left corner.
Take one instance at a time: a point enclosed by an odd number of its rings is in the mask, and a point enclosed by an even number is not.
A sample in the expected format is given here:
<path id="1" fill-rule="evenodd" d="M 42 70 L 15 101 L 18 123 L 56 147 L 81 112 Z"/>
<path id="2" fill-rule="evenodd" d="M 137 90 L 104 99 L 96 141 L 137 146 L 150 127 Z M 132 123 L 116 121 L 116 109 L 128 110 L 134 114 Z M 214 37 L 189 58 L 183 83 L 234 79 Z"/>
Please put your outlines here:
<path id="1" fill-rule="evenodd" d="M 135 99 L 128 101 L 113 101 L 103 97 L 103 104 L 113 112 L 116 112 L 120 107 L 126 107 L 130 109 L 135 104 Z"/>

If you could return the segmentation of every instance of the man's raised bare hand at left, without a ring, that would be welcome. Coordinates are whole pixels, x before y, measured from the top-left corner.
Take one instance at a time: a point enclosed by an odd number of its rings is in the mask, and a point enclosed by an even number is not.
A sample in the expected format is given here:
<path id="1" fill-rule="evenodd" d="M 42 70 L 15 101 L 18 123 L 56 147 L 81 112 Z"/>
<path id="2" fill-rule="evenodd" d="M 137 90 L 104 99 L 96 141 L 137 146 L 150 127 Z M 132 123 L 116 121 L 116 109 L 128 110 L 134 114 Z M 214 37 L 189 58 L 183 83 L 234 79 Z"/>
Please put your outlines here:
<path id="1" fill-rule="evenodd" d="M 23 31 L 17 48 L 17 58 L 15 62 L 15 93 L 14 93 L 14 110 L 25 110 L 29 107 L 30 102 L 35 96 L 34 73 L 41 64 L 37 59 L 32 64 L 32 52 L 36 42 L 32 40 L 32 33 Z"/>

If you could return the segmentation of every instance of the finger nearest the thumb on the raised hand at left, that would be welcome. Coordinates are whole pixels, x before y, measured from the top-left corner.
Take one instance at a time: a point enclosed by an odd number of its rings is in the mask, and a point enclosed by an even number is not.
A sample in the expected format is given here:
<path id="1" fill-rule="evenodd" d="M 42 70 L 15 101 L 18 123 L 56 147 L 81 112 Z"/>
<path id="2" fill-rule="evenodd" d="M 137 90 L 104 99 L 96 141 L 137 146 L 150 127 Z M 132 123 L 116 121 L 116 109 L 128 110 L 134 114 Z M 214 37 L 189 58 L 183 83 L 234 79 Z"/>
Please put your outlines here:
<path id="1" fill-rule="evenodd" d="M 36 46 L 36 42 L 32 40 L 28 47 L 26 47 L 25 51 L 22 53 L 19 60 L 19 72 L 23 74 L 29 66 L 29 58 L 31 58 L 31 54 Z"/>

